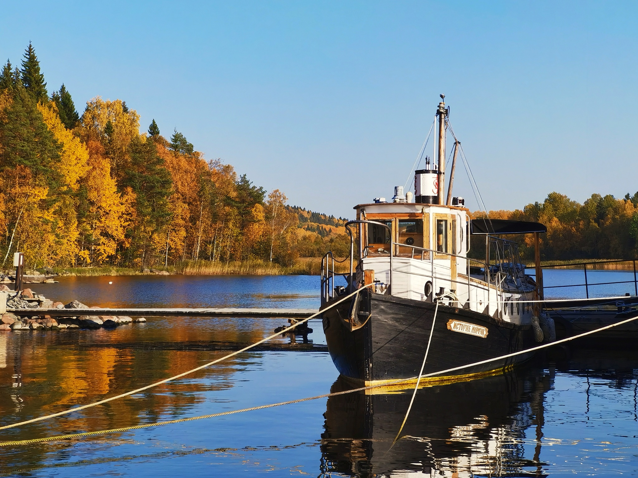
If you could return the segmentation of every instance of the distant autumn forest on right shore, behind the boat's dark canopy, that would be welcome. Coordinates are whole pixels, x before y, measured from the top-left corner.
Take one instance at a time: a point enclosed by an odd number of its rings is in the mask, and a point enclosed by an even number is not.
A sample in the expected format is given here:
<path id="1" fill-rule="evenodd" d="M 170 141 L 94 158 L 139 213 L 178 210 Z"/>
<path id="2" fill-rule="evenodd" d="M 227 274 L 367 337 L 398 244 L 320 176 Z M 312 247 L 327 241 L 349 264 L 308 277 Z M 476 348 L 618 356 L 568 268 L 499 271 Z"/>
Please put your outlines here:
<path id="1" fill-rule="evenodd" d="M 551 192 L 542 203 L 528 204 L 523 210 L 489 211 L 487 215 L 545 224 L 547 234 L 541 235 L 540 246 L 544 260 L 638 258 L 638 192 L 633 196 L 627 193 L 623 199 L 592 194 L 582 204 Z M 475 212 L 473 217 L 485 214 Z M 512 239 L 519 242 L 522 238 Z M 478 242 L 473 242 L 472 248 L 473 254 L 485 249 Z M 533 259 L 531 235 L 524 236 L 521 254 Z"/>

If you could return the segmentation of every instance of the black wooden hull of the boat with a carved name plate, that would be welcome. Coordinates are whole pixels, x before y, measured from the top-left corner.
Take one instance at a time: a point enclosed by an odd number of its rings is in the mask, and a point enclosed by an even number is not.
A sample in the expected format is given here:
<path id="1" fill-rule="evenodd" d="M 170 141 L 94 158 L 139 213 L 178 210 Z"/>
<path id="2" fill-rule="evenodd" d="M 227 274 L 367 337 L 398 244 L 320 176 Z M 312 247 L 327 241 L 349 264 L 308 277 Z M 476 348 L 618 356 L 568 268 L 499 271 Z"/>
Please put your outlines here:
<path id="1" fill-rule="evenodd" d="M 339 373 L 366 386 L 419 375 L 435 304 L 367 290 L 362 291 L 360 296 L 357 303 L 353 302 L 353 297 L 322 313 L 328 349 Z M 352 317 L 360 320 L 365 315 L 369 317 L 359 324 L 359 328 L 352 330 Z M 497 358 L 533 345 L 529 325 L 500 321 L 487 314 L 441 304 L 436 314 L 424 374 Z M 520 354 L 498 359 L 422 379 L 422 382 L 500 373 L 530 356 Z"/>

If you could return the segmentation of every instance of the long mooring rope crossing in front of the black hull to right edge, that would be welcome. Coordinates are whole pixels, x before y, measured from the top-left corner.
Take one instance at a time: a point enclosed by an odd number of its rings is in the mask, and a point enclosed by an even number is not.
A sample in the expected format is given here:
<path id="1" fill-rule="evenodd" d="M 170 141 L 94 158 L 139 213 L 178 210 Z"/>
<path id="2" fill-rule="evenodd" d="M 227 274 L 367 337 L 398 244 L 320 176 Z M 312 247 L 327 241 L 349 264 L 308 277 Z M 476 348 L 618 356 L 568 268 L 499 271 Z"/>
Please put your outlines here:
<path id="1" fill-rule="evenodd" d="M 361 290 L 361 289 L 359 289 L 359 290 Z M 353 293 L 353 294 L 355 294 L 355 293 Z M 350 295 L 353 295 L 353 294 L 350 294 Z M 336 305 L 336 303 L 334 305 Z M 81 438 L 81 437 L 89 437 L 89 436 L 93 436 L 93 435 L 105 435 L 107 433 L 119 433 L 119 432 L 122 432 L 122 431 L 139 430 L 141 428 L 151 428 L 151 427 L 154 427 L 154 426 L 161 426 L 161 425 L 181 423 L 181 422 L 186 422 L 186 421 L 200 420 L 200 419 L 204 419 L 204 418 L 213 418 L 213 417 L 220 417 L 220 416 L 225 416 L 225 415 L 233 415 L 233 414 L 238 414 L 238 413 L 242 413 L 242 412 L 251 412 L 253 410 L 271 409 L 273 407 L 279 407 L 281 405 L 292 405 L 293 403 L 309 402 L 310 400 L 317 400 L 319 398 L 330 398 L 331 396 L 346 395 L 348 393 L 355 393 L 355 392 L 371 390 L 371 389 L 375 389 L 375 388 L 389 387 L 389 386 L 393 386 L 393 385 L 397 385 L 397 384 L 402 384 L 402 383 L 405 383 L 405 382 L 411 382 L 412 380 L 416 380 L 416 379 L 420 380 L 422 378 L 425 379 L 425 378 L 428 378 L 428 377 L 434 377 L 436 375 L 441 375 L 441 373 L 456 372 L 457 370 L 462 370 L 463 368 L 470 368 L 470 367 L 477 366 L 477 365 L 484 365 L 484 364 L 489 363 L 489 362 L 494 362 L 494 361 L 497 361 L 497 360 L 511 358 L 511 357 L 514 357 L 514 356 L 517 356 L 517 355 L 527 354 L 529 352 L 535 352 L 535 351 L 538 351 L 540 349 L 545 349 L 547 347 L 553 347 L 554 345 L 558 345 L 558 344 L 564 344 L 565 342 L 569 342 L 570 340 L 575 340 L 577 338 L 585 337 L 587 335 L 591 335 L 593 333 L 597 333 L 597 332 L 600 332 L 600 331 L 603 331 L 603 330 L 609 330 L 611 328 L 618 327 L 619 325 L 623 325 L 623 324 L 627 324 L 629 322 L 635 321 L 636 319 L 638 319 L 638 315 L 636 315 L 635 317 L 630 317 L 629 319 L 625 319 L 624 321 L 620 321 L 620 322 L 616 322 L 614 324 L 609 324 L 607 326 L 600 327 L 600 328 L 595 329 L 595 330 L 590 330 L 590 331 L 587 331 L 587 332 L 583 332 L 583 333 L 581 333 L 579 335 L 574 335 L 572 337 L 567 337 L 567 338 L 561 338 L 561 340 L 556 340 L 556 342 L 550 342 L 549 344 L 537 345 L 536 347 L 531 347 L 530 349 L 525 349 L 523 351 L 512 352 L 511 354 L 506 354 L 506 355 L 503 355 L 503 356 L 500 356 L 500 357 L 486 359 L 486 360 L 482 360 L 482 361 L 475 362 L 475 363 L 470 363 L 468 365 L 461 365 L 461 366 L 457 366 L 457 367 L 453 367 L 453 368 L 448 368 L 447 370 L 440 370 L 438 372 L 427 373 L 426 375 L 419 375 L 419 377 L 412 377 L 410 379 L 392 380 L 390 382 L 383 382 L 383 383 L 380 383 L 380 384 L 369 385 L 367 387 L 359 387 L 359 388 L 345 390 L 345 391 L 341 391 L 341 392 L 325 393 L 323 395 L 316 395 L 316 396 L 311 396 L 311 397 L 308 397 L 308 398 L 299 398 L 297 400 L 289 400 L 288 402 L 271 403 L 269 405 L 260 405 L 258 407 L 250 407 L 248 409 L 229 410 L 228 412 L 220 412 L 220 413 L 216 413 L 216 414 L 202 415 L 202 416 L 197 416 L 197 417 L 180 418 L 180 419 L 176 419 L 176 420 L 161 421 L 161 422 L 156 422 L 156 423 L 147 423 L 147 424 L 142 424 L 142 425 L 128 426 L 128 427 L 124 427 L 124 428 L 112 428 L 111 430 L 85 431 L 83 433 L 70 433 L 68 435 L 54 435 L 52 437 L 33 438 L 31 440 L 13 440 L 13 441 L 7 441 L 7 442 L 0 442 L 0 447 L 10 446 L 10 445 L 28 445 L 28 444 L 34 444 L 34 443 L 53 442 L 53 441 L 59 441 L 59 440 L 68 440 L 70 438 Z M 75 411 L 75 410 L 78 410 L 78 409 L 71 409 L 71 411 Z M 50 416 L 46 416 L 46 417 L 41 417 L 40 419 L 36 419 L 36 420 L 33 420 L 33 421 L 38 421 L 38 420 L 42 420 L 42 419 L 45 419 L 45 418 L 48 418 L 48 417 L 53 417 L 53 416 L 56 416 L 56 415 L 50 415 Z M 27 422 L 23 422 L 23 423 L 32 423 L 32 421 L 27 421 Z M 18 426 L 18 425 L 23 424 L 23 423 L 16 423 L 16 424 L 13 424 L 13 425 L 10 425 L 10 426 L 4 426 L 3 428 L 10 428 L 11 426 Z"/>

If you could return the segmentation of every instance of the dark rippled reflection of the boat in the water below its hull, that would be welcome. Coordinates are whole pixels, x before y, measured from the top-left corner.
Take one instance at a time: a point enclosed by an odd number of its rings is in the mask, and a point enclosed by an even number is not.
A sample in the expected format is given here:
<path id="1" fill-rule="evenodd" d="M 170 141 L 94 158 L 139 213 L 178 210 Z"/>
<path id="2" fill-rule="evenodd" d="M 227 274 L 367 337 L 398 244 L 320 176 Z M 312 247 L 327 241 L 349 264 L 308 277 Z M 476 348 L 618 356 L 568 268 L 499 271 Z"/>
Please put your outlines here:
<path id="1" fill-rule="evenodd" d="M 322 472 L 375 476 L 542 475 L 538 452 L 524 457 L 525 430 L 544 423 L 551 376 L 535 368 L 417 393 L 402 438 L 390 449 L 411 393 L 331 397 Z M 333 391 L 347 389 L 337 380 Z M 540 443 L 540 442 L 539 442 Z"/>

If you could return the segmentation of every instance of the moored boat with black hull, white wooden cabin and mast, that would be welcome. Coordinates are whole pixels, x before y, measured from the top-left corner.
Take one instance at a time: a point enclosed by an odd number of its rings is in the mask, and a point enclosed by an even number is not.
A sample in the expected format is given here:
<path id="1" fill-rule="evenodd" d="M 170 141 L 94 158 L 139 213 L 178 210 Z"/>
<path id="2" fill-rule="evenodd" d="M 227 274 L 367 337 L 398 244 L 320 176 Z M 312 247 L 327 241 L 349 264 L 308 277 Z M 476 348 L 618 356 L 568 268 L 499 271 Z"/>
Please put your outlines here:
<path id="1" fill-rule="evenodd" d="M 422 384 L 494 375 L 531 353 L 502 356 L 538 345 L 539 336 L 547 340 L 537 302 L 542 280 L 537 284 L 526 273 L 517 243 L 503 237 L 533 234 L 538 258 L 539 235 L 547 228 L 470 219 L 464 199 L 452 197 L 456 137 L 445 198 L 449 108 L 443 95 L 436 116 L 438 164 L 426 159 L 426 168 L 415 171 L 414 194 L 397 186 L 390 201 L 375 198 L 354 206 L 357 219 L 346 223 L 345 286 L 336 280 L 334 254 L 322 259 L 320 310 L 327 346 L 339 373 L 356 384 L 390 386 L 403 380 L 394 386 L 413 387 L 426 350 L 423 374 L 436 375 Z M 468 255 L 470 236 L 484 244 L 471 254 L 481 259 Z"/>

